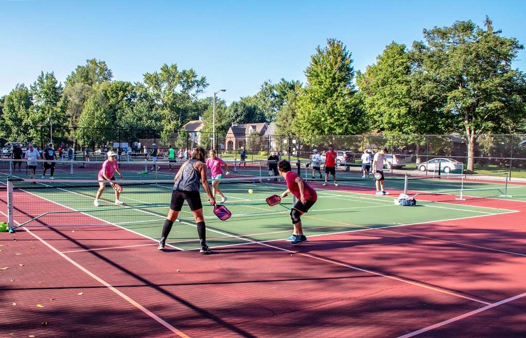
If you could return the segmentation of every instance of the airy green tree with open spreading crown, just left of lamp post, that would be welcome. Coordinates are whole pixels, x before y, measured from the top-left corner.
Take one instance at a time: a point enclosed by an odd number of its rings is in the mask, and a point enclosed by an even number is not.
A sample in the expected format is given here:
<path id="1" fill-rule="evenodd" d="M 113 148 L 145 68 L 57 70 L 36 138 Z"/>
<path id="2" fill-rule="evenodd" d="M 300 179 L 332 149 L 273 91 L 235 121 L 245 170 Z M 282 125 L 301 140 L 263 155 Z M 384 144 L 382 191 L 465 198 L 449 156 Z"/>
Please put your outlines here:
<path id="1" fill-rule="evenodd" d="M 179 71 L 176 64 L 164 64 L 160 72 L 146 73 L 144 83 L 166 128 L 161 133 L 163 139 L 169 138 L 173 130 L 196 117 L 197 96 L 208 86 L 206 78 L 198 77 L 194 69 Z"/>

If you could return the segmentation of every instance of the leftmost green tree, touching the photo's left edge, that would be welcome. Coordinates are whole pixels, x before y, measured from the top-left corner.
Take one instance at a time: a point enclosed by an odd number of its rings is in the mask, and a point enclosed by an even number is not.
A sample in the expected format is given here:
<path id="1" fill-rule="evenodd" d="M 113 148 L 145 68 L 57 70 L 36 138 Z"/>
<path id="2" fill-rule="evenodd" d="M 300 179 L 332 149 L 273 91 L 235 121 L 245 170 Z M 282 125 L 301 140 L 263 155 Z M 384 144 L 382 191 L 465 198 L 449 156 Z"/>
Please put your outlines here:
<path id="1" fill-rule="evenodd" d="M 2 124 L 0 137 L 9 141 L 27 141 L 24 118 L 29 114 L 32 106 L 32 96 L 24 84 L 16 85 L 15 89 L 3 98 Z"/>

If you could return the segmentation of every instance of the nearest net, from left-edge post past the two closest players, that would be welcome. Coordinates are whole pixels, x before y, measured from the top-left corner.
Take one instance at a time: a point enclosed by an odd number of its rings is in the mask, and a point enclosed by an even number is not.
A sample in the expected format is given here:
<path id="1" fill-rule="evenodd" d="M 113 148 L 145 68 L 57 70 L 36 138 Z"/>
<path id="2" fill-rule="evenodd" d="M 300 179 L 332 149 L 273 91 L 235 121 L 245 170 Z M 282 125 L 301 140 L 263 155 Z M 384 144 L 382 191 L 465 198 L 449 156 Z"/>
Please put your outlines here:
<path id="1" fill-rule="evenodd" d="M 26 225 L 62 227 L 108 224 L 133 226 L 163 222 L 170 208 L 173 180 L 117 182 L 123 187 L 120 200 L 124 204 L 115 204 L 115 191 L 106 184 L 99 206 L 95 207 L 93 202 L 99 188 L 99 182 L 95 180 L 9 179 L 9 227 L 16 229 Z M 223 204 L 232 212 L 232 217 L 288 212 L 285 208 L 291 208 L 295 202 L 289 195 L 282 200 L 282 207 L 268 206 L 267 197 L 279 195 L 286 190 L 285 182 L 277 176 L 224 179 L 221 180 L 219 189 L 227 197 Z M 205 219 L 217 220 L 202 187 L 200 192 Z M 220 202 L 219 195 L 216 200 Z M 179 219 L 194 220 L 186 202 L 179 213 Z"/>

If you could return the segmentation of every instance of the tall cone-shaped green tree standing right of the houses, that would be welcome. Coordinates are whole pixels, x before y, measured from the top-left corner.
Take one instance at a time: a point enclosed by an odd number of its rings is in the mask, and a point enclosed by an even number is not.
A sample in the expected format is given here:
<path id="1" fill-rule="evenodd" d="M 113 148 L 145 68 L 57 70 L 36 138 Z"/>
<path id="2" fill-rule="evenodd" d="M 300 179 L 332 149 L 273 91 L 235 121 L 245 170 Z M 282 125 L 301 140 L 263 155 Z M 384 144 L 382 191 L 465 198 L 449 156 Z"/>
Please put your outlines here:
<path id="1" fill-rule="evenodd" d="M 362 111 L 353 84 L 351 53 L 342 42 L 328 39 L 317 47 L 305 74 L 307 87 L 297 100 L 297 135 L 357 134 L 362 131 Z"/>

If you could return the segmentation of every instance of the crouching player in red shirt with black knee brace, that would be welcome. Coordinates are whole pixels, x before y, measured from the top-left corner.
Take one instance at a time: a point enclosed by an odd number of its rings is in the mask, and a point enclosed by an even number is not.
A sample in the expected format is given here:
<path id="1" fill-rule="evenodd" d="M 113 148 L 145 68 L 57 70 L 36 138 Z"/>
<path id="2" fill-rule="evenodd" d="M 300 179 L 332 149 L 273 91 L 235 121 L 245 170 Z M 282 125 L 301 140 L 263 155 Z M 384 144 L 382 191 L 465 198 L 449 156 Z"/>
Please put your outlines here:
<path id="1" fill-rule="evenodd" d="M 307 237 L 303 234 L 301 228 L 301 215 L 309 211 L 309 209 L 316 203 L 318 195 L 316 190 L 309 186 L 296 172 L 292 171 L 290 162 L 281 160 L 278 162 L 279 175 L 285 178 L 287 183 L 287 190 L 281 194 L 281 198 L 286 197 L 292 193 L 298 199 L 295 206 L 290 210 L 290 218 L 294 224 L 292 235 L 287 238 L 292 245 L 298 245 L 307 241 Z"/>

